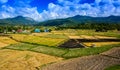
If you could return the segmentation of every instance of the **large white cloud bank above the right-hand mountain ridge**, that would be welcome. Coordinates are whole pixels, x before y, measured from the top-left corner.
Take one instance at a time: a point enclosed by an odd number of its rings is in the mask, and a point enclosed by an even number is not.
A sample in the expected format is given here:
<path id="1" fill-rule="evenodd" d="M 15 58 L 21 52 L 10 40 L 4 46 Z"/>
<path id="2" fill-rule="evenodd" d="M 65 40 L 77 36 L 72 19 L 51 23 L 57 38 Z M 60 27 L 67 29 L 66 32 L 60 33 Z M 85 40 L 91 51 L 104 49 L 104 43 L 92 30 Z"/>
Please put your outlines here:
<path id="1" fill-rule="evenodd" d="M 43 11 L 46 19 L 67 18 L 75 15 L 92 17 L 120 16 L 120 0 L 94 0 L 93 3 L 80 3 L 83 0 L 58 0 L 58 4 L 49 3 Z M 47 16 L 47 17 L 44 17 Z"/>

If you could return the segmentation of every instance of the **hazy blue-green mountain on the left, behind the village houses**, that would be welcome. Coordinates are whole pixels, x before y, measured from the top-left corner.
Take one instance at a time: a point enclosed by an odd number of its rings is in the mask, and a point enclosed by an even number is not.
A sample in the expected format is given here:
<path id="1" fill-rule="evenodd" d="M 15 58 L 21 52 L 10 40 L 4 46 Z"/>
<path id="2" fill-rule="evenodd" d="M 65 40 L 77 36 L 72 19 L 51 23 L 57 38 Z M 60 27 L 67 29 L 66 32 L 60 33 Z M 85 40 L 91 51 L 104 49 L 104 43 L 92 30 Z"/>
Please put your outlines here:
<path id="1" fill-rule="evenodd" d="M 38 22 L 29 17 L 17 16 L 14 18 L 0 19 L 0 25 L 35 25 Z"/>

